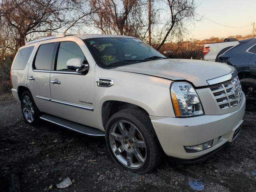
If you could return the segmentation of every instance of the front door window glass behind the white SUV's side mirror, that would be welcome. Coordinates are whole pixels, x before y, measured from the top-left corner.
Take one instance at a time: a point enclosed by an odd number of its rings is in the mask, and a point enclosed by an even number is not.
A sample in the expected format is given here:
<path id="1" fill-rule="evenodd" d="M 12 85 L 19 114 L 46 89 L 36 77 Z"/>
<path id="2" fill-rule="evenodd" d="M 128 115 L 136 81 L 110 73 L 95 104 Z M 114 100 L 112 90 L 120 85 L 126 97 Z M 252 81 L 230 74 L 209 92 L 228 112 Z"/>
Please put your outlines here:
<path id="1" fill-rule="evenodd" d="M 74 42 L 61 42 L 58 52 L 56 70 L 68 70 L 67 61 L 72 58 L 80 58 L 82 61 L 86 61 L 86 58 L 78 44 Z"/>

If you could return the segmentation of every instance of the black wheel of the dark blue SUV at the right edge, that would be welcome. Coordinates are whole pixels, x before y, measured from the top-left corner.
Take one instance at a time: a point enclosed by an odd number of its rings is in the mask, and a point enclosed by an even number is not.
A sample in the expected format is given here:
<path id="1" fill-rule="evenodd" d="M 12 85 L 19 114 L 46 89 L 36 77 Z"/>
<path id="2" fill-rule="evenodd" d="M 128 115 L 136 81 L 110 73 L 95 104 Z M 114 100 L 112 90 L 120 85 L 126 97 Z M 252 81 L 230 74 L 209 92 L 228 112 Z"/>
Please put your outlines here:
<path id="1" fill-rule="evenodd" d="M 246 110 L 256 110 L 256 79 L 245 78 L 240 80 L 242 91 L 246 96 Z"/>

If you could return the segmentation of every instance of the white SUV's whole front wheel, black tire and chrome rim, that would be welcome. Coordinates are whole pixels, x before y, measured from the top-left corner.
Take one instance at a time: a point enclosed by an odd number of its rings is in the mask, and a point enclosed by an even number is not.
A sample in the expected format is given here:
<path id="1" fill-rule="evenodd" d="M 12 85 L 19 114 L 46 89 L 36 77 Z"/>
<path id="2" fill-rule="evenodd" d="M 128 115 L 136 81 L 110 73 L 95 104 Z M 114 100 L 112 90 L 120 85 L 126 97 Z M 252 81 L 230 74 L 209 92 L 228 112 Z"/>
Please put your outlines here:
<path id="1" fill-rule="evenodd" d="M 106 145 L 114 161 L 131 172 L 146 174 L 162 161 L 160 146 L 148 114 L 124 109 L 106 124 Z"/>

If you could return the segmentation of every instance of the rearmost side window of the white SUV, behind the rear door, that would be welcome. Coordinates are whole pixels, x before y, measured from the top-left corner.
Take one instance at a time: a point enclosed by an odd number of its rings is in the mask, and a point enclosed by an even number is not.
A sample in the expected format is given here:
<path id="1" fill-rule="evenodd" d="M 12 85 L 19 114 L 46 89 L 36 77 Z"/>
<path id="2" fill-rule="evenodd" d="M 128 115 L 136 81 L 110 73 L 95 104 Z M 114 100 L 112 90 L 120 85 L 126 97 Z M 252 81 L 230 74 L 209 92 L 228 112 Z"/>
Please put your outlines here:
<path id="1" fill-rule="evenodd" d="M 34 46 L 25 47 L 18 51 L 17 56 L 13 62 L 12 69 L 13 70 L 24 70 L 28 59 L 34 49 Z"/>

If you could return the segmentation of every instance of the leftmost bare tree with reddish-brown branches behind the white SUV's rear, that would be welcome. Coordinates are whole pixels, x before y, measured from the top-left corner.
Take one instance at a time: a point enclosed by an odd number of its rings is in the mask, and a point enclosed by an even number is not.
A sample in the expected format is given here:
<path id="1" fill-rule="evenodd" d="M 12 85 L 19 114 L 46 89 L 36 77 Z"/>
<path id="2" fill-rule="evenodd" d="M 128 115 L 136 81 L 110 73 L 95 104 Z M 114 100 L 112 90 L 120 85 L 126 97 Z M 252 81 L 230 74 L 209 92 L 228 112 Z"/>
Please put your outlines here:
<path id="1" fill-rule="evenodd" d="M 54 31 L 73 27 L 80 19 L 91 13 L 78 9 L 80 0 L 3 0 L 0 19 L 8 28 L 16 32 L 16 50 L 23 46 L 30 34 Z M 83 7 L 84 8 L 84 7 Z M 76 13 L 75 16 L 70 13 Z"/>

